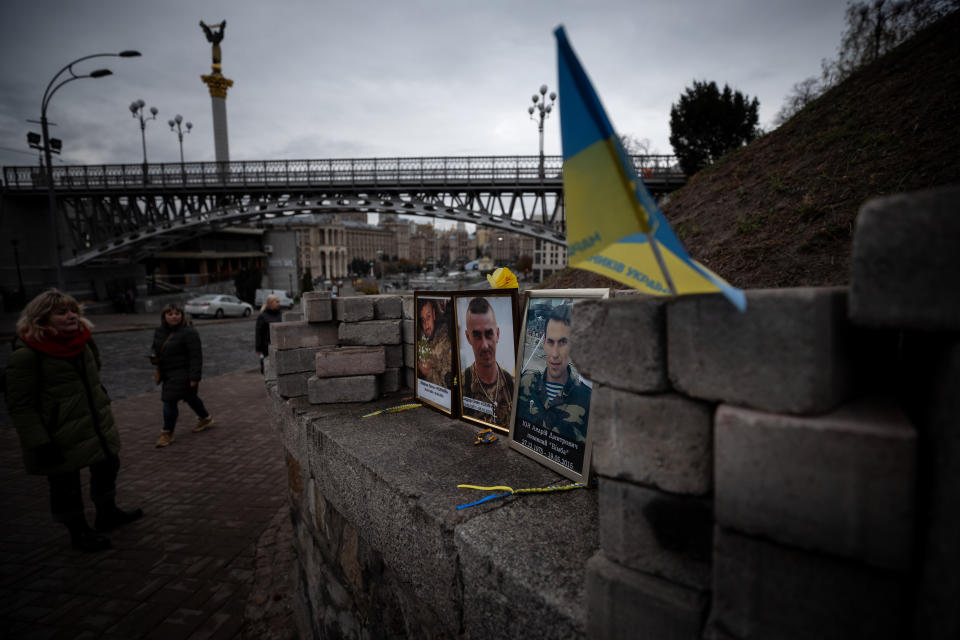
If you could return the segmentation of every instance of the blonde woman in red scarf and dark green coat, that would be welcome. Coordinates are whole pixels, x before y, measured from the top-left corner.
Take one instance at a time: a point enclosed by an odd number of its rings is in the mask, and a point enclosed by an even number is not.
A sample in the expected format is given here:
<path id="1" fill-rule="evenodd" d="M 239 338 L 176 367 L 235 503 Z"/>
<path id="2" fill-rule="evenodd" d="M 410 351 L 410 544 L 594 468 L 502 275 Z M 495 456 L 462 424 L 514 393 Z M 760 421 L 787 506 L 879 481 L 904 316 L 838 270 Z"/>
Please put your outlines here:
<path id="1" fill-rule="evenodd" d="M 30 301 L 17 321 L 7 363 L 7 408 L 27 473 L 47 476 L 53 519 L 66 525 L 75 549 L 110 546 L 102 534 L 143 516 L 117 507 L 120 434 L 100 384 L 93 325 L 80 305 L 56 289 Z M 83 512 L 80 469 L 90 467 L 96 530 Z"/>

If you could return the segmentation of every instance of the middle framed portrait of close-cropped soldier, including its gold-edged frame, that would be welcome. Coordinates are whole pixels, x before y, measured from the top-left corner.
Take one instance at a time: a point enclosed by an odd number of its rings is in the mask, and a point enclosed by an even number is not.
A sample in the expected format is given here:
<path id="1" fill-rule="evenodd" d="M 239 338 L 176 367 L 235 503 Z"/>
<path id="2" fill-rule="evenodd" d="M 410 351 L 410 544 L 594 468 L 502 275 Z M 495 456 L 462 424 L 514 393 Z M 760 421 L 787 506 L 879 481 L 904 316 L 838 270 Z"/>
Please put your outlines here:
<path id="1" fill-rule="evenodd" d="M 509 433 L 517 357 L 517 290 L 460 292 L 454 299 L 460 417 Z"/>

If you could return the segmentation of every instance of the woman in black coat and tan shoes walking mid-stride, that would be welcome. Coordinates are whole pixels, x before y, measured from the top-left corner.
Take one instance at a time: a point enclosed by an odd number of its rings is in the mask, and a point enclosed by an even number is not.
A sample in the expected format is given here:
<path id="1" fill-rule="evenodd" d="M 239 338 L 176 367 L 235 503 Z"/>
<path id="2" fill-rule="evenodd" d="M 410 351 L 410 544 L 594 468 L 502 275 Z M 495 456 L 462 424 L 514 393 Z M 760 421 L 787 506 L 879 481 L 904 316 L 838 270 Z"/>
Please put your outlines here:
<path id="1" fill-rule="evenodd" d="M 160 393 L 163 430 L 157 446 L 166 447 L 173 442 L 173 430 L 180 413 L 177 403 L 181 400 L 197 414 L 194 433 L 212 426 L 213 418 L 198 395 L 203 369 L 200 334 L 190 326 L 190 318 L 178 303 L 171 302 L 160 312 L 160 326 L 153 332 L 150 362 L 157 366 L 157 383 L 163 383 Z"/>

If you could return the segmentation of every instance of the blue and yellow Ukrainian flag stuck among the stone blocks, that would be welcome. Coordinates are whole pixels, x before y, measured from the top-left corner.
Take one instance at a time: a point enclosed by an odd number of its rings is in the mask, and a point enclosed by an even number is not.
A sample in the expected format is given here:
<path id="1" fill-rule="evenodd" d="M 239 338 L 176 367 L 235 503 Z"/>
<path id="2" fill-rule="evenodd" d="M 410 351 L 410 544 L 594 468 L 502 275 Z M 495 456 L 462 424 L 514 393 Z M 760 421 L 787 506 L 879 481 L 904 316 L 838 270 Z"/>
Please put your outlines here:
<path id="1" fill-rule="evenodd" d="M 746 309 L 742 291 L 680 244 L 636 175 L 563 27 L 554 34 L 570 266 L 653 295 L 722 293 Z"/>

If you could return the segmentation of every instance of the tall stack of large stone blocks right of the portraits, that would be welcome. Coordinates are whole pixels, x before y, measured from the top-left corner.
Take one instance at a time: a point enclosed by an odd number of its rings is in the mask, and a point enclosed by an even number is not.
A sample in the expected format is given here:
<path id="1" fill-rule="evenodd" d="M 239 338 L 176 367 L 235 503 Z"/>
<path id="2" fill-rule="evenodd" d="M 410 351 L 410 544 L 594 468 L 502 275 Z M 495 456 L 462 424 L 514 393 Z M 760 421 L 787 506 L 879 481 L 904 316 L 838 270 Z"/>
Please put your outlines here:
<path id="1" fill-rule="evenodd" d="M 574 308 L 589 637 L 960 637 L 957 203 L 868 202 L 849 291 Z"/>

